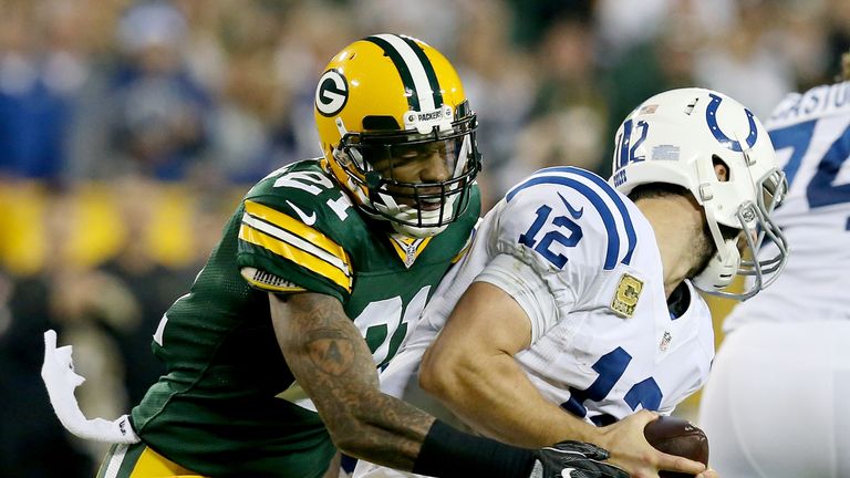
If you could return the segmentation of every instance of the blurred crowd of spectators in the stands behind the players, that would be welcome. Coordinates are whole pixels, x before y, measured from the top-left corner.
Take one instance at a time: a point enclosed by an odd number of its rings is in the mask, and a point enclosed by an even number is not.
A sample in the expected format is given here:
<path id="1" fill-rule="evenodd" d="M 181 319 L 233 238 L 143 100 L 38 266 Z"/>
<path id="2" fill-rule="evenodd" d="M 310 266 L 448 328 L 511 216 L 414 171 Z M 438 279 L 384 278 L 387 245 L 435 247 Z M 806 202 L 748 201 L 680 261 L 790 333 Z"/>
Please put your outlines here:
<path id="1" fill-rule="evenodd" d="M 42 332 L 74 344 L 90 416 L 126 412 L 240 196 L 320 154 L 322 67 L 379 32 L 459 71 L 489 207 L 540 167 L 608 176 L 616 126 L 663 90 L 766 119 L 833 81 L 850 1 L 0 0 L 0 476 L 92 476 L 103 448 L 53 416 Z"/>

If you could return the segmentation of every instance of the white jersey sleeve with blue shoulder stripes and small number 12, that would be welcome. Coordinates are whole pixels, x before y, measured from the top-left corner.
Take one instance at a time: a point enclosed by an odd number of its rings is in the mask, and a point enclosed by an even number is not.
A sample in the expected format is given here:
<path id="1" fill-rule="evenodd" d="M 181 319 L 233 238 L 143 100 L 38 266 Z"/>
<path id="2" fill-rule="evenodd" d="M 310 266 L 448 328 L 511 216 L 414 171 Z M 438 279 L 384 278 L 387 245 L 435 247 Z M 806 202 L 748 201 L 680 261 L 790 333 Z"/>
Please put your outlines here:
<path id="1" fill-rule="evenodd" d="M 630 260 L 636 235 L 624 201 L 578 168 L 539 172 L 504 199 L 490 231 L 496 257 L 476 280 L 514 297 L 531 321 L 532 343 Z"/>

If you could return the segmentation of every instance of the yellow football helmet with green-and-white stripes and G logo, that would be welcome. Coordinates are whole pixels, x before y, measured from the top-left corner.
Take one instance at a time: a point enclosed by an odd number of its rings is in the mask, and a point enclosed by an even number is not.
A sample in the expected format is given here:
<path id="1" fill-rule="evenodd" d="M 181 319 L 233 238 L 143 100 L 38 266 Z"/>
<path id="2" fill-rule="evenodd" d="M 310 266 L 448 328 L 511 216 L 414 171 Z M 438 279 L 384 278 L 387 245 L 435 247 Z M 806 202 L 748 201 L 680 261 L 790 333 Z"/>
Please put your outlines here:
<path id="1" fill-rule="evenodd" d="M 315 90 L 325 166 L 371 217 L 410 237 L 443 231 L 467 208 L 478 170 L 477 119 L 455 69 L 404 35 L 355 41 L 328 64 Z M 442 175 L 412 181 L 414 162 Z"/>

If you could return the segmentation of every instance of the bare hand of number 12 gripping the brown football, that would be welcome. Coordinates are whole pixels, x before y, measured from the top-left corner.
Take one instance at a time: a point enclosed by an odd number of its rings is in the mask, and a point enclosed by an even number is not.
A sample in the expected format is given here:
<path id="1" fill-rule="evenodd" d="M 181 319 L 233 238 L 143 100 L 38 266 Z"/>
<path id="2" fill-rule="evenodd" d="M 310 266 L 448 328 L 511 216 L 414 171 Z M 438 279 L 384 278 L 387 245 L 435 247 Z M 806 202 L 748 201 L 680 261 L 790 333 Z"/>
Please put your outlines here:
<path id="1" fill-rule="evenodd" d="M 643 428 L 657 416 L 653 412 L 640 411 L 600 428 L 602 439 L 598 443 L 610 451 L 609 461 L 626 470 L 633 478 L 657 478 L 659 470 L 704 474 L 705 465 L 699 461 L 659 451 L 646 441 Z M 706 477 L 717 478 L 711 474 Z"/>

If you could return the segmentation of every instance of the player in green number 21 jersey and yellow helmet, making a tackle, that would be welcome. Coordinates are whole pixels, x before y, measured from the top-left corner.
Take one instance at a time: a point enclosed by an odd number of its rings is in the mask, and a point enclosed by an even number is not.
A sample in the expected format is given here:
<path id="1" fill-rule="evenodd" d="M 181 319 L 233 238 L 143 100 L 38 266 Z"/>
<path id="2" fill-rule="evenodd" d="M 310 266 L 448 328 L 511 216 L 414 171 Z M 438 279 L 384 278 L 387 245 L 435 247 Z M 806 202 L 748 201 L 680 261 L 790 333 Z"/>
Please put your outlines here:
<path id="1" fill-rule="evenodd" d="M 315 121 L 324 156 L 257 184 L 165 313 L 166 374 L 114 427 L 81 433 L 123 441 L 99 476 L 312 478 L 338 449 L 432 476 L 624 476 L 592 445 L 511 447 L 379 389 L 479 215 L 476 116 L 449 62 L 407 37 L 356 41 L 321 76 Z M 80 432 L 60 351 L 49 336 L 43 374 Z"/>

